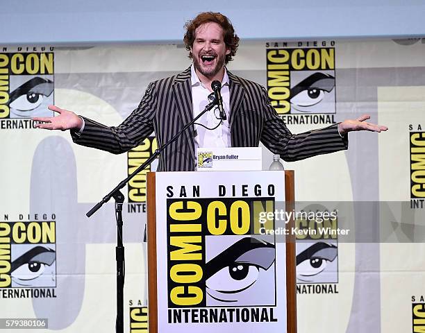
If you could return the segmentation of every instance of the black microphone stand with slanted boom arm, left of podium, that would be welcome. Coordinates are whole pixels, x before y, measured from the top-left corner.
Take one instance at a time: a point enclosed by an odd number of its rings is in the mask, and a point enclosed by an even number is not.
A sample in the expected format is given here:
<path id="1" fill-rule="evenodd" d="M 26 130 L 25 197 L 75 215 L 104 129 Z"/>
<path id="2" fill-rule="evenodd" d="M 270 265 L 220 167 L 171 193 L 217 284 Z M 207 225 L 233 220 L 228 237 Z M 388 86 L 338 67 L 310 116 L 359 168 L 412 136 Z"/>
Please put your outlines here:
<path id="1" fill-rule="evenodd" d="M 115 259 L 117 261 L 117 319 L 115 321 L 115 332 L 124 333 L 124 277 L 125 277 L 125 262 L 124 262 L 124 246 L 122 244 L 122 204 L 124 203 L 124 194 L 120 191 L 124 186 L 126 186 L 127 182 L 131 180 L 135 175 L 137 175 L 140 171 L 144 170 L 149 164 L 153 162 L 153 160 L 160 155 L 160 153 L 169 146 L 172 142 L 174 142 L 180 135 L 188 129 L 190 126 L 194 124 L 204 113 L 214 108 L 217 105 L 217 100 L 214 99 L 211 103 L 206 105 L 205 109 L 197 115 L 192 121 L 187 123 L 169 142 L 165 143 L 160 148 L 156 149 L 156 151 L 149 157 L 146 162 L 140 165 L 138 169 L 135 169 L 130 176 L 126 179 L 119 182 L 119 184 L 110 191 L 106 196 L 92 209 L 87 212 L 85 215 L 87 217 L 92 216 L 99 208 L 107 203 L 110 198 L 115 199 L 115 218 L 117 220 L 117 247 L 115 248 Z"/>

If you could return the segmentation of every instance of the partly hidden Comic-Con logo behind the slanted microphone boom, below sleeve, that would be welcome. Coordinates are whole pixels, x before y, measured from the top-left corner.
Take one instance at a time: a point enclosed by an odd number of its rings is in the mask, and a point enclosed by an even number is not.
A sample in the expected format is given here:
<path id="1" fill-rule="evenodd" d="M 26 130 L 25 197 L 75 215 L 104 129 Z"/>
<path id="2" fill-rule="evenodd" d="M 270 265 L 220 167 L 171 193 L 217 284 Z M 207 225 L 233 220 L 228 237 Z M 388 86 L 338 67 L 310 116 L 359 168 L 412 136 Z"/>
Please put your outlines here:
<path id="1" fill-rule="evenodd" d="M 156 137 L 147 137 L 142 144 L 131 149 L 127 153 L 127 175 L 130 176 L 140 165 L 146 162 L 158 148 Z M 128 182 L 128 212 L 146 212 L 147 173 L 156 171 L 158 158 L 140 171 Z"/>

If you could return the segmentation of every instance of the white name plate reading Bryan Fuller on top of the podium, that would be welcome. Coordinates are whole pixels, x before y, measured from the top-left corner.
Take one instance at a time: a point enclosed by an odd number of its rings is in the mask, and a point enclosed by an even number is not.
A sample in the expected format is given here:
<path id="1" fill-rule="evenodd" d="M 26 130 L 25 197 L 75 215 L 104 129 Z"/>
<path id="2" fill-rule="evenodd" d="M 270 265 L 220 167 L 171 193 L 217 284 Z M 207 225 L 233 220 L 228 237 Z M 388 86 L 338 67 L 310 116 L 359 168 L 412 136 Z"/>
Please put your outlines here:
<path id="1" fill-rule="evenodd" d="M 197 148 L 197 171 L 260 171 L 261 147 Z"/>

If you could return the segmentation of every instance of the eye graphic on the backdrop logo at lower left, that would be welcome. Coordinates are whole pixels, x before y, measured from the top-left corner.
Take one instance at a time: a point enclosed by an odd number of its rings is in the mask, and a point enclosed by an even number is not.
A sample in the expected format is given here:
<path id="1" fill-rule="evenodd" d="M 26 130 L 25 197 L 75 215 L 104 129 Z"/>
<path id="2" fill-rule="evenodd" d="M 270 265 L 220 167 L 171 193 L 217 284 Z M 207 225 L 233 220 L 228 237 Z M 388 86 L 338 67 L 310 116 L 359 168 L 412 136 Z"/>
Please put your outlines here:
<path id="1" fill-rule="evenodd" d="M 31 286 L 33 280 L 47 273 L 47 268 L 56 260 L 56 251 L 35 246 L 12 262 L 10 269 L 13 282 Z"/>

